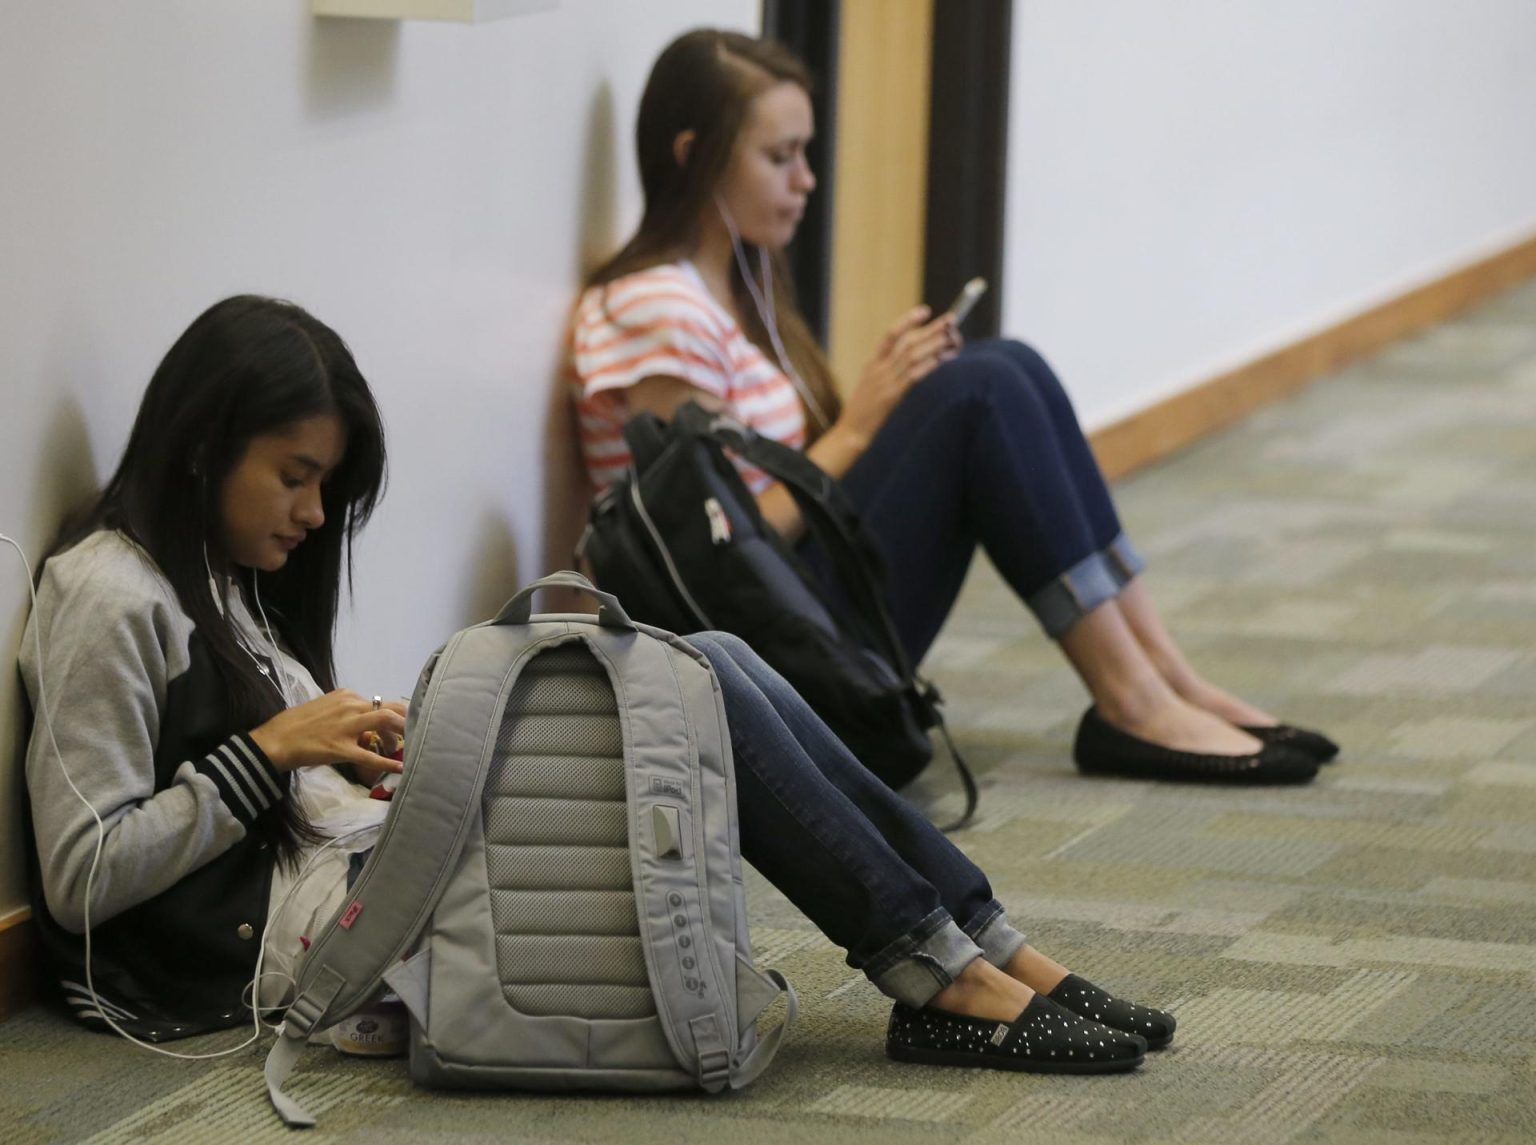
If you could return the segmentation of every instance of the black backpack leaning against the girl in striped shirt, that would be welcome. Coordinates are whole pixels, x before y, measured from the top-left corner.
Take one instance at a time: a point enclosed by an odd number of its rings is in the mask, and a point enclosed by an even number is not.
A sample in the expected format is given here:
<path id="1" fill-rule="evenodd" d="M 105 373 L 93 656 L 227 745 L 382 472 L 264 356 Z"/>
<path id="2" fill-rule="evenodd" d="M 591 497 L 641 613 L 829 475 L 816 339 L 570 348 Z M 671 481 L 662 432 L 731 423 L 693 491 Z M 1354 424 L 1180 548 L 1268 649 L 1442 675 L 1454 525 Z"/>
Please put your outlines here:
<path id="1" fill-rule="evenodd" d="M 624 427 L 630 472 L 598 496 L 578 561 L 639 621 L 677 633 L 714 629 L 746 641 L 892 788 L 932 759 L 937 727 L 975 811 L 975 781 L 954 750 L 938 690 L 908 664 L 885 606 L 883 561 L 837 483 L 796 449 L 696 403 L 670 423 Z M 834 601 L 763 521 L 727 450 L 794 496 L 831 558 Z"/>

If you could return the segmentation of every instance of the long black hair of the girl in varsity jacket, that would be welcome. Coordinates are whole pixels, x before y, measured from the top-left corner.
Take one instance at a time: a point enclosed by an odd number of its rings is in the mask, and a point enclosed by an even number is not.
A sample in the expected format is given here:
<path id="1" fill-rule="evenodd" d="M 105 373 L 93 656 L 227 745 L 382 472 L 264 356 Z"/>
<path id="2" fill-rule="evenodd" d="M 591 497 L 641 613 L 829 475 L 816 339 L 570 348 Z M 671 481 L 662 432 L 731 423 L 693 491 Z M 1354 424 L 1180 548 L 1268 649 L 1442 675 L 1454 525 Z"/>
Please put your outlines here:
<path id="1" fill-rule="evenodd" d="M 232 728 L 258 727 L 283 701 L 243 649 L 210 582 L 224 481 L 253 438 L 321 415 L 336 417 L 346 432 L 343 460 L 321 486 L 326 521 L 283 569 L 261 576 L 261 599 L 289 650 L 329 692 L 352 538 L 384 490 L 384 426 L 346 343 L 304 309 L 238 295 L 204 310 L 155 369 L 117 472 L 65 539 L 117 529 L 149 553 L 212 653 Z M 252 570 L 229 572 L 247 592 L 255 587 Z M 316 838 L 292 799 L 269 808 L 257 830 L 284 862 Z"/>

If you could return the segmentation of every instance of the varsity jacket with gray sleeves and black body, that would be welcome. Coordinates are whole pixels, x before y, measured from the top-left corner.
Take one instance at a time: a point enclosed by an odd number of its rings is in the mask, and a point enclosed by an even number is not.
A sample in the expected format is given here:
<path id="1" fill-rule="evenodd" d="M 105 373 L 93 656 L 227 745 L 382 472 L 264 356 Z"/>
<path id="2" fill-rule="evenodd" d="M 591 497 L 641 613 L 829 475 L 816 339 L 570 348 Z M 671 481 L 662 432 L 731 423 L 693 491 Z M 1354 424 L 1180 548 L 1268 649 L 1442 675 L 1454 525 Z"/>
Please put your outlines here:
<path id="1" fill-rule="evenodd" d="M 272 851 L 247 828 L 286 776 L 230 727 L 221 678 L 154 561 L 117 532 L 51 558 L 22 675 L 34 911 L 69 1008 L 157 1040 L 249 1021 Z M 91 891 L 100 1010 L 83 941 L 97 825 L 71 779 L 106 827 Z"/>

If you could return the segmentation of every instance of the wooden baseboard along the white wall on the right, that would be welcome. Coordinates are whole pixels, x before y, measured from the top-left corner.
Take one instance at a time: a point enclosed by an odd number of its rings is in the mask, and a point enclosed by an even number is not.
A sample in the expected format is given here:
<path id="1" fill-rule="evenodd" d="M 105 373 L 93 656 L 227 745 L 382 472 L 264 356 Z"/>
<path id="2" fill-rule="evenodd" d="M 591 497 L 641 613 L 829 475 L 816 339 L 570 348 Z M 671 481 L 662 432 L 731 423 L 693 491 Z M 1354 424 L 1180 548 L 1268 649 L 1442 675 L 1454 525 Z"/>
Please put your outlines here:
<path id="1" fill-rule="evenodd" d="M 1091 433 L 1098 464 L 1124 476 L 1527 278 L 1536 278 L 1536 237 Z"/>

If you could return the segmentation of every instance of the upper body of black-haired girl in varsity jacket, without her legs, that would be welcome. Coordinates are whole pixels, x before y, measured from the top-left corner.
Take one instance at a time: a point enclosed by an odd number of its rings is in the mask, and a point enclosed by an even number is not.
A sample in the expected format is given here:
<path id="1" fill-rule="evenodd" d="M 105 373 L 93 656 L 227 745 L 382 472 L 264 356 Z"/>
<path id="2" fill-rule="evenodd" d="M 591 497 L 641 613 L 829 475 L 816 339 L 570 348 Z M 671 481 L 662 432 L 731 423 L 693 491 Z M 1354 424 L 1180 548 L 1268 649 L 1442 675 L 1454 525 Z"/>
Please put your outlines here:
<path id="1" fill-rule="evenodd" d="M 43 566 L 22 646 L 34 712 L 52 701 L 28 752 L 37 922 L 88 1024 L 160 1039 L 241 1021 L 316 824 L 381 818 L 329 764 L 398 770 L 359 738 L 402 732 L 404 707 L 338 690 L 332 659 L 384 469 L 341 338 L 296 306 L 227 298 L 166 353 L 117 472 Z M 298 945 L 267 945 L 281 994 Z"/>

